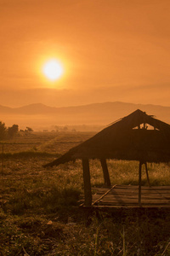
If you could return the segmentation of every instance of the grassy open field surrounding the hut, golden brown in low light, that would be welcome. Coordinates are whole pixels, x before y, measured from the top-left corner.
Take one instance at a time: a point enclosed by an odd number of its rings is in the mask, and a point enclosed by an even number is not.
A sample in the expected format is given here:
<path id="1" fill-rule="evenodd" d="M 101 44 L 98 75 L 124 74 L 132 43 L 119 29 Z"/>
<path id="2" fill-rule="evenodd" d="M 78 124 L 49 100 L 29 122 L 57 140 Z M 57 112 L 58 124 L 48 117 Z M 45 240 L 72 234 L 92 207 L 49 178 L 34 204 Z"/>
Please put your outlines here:
<path id="1" fill-rule="evenodd" d="M 81 160 L 42 168 L 93 135 L 37 132 L 2 142 L 0 255 L 170 255 L 169 210 L 84 212 Z M 111 183 L 138 184 L 138 162 L 108 160 L 108 167 Z M 152 185 L 170 185 L 170 166 L 148 167 Z M 90 168 L 92 186 L 103 186 L 99 161 Z"/>

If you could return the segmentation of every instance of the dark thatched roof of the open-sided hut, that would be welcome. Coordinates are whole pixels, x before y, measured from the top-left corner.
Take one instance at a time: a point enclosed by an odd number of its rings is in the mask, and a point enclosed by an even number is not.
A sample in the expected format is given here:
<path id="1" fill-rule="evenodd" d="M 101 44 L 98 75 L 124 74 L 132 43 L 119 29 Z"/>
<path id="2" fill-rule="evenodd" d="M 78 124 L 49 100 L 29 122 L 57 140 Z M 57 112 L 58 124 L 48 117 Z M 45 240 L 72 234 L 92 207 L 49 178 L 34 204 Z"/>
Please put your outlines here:
<path id="1" fill-rule="evenodd" d="M 154 129 L 135 129 L 141 124 L 151 125 Z M 170 161 L 170 125 L 138 109 L 84 143 L 71 148 L 45 167 L 59 166 L 77 159 L 168 162 Z"/>

